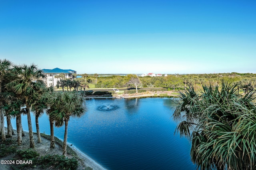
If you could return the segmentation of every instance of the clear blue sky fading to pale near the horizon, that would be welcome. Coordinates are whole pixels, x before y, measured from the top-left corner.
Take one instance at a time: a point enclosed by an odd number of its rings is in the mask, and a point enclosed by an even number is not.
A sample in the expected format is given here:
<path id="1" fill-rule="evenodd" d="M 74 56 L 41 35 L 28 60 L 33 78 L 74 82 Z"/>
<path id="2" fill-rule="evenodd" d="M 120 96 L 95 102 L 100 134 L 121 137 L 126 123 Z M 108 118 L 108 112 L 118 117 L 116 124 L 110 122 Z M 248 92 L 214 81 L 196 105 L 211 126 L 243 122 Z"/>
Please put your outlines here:
<path id="1" fill-rule="evenodd" d="M 255 0 L 0 0 L 0 58 L 78 73 L 256 73 Z"/>

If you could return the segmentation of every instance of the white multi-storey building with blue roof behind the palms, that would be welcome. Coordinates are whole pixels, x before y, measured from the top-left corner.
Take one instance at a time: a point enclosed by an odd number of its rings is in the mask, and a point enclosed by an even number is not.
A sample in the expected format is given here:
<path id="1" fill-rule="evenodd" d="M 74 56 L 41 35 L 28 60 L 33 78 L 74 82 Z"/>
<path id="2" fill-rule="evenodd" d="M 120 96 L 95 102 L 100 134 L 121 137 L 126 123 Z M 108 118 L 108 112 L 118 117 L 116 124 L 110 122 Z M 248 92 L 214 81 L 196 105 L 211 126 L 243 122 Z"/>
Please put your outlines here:
<path id="1" fill-rule="evenodd" d="M 56 86 L 58 79 L 55 78 L 56 75 L 59 75 L 60 73 L 65 74 L 65 78 L 69 78 L 70 80 L 73 80 L 74 74 L 76 74 L 75 70 L 62 70 L 60 68 L 54 68 L 52 70 L 50 69 L 42 69 L 44 75 L 46 76 L 46 79 L 44 82 L 46 83 L 47 87 L 50 86 Z"/>

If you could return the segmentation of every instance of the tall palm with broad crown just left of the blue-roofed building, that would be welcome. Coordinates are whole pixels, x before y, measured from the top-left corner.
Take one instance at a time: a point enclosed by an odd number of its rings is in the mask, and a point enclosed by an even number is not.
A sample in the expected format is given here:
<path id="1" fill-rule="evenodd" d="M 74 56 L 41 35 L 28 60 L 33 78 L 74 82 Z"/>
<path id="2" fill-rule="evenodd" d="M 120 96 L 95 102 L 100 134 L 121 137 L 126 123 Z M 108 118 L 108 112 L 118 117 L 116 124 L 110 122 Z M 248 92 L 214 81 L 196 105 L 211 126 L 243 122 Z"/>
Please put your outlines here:
<path id="1" fill-rule="evenodd" d="M 38 83 L 37 81 L 45 78 L 45 76 L 42 70 L 38 69 L 35 64 L 31 64 L 30 66 L 27 66 L 26 64 L 20 66 L 14 65 L 13 72 L 16 74 L 16 80 L 12 82 L 12 90 L 16 94 L 20 94 L 25 99 L 30 148 L 34 148 L 35 144 L 30 117 L 30 106 L 32 104 L 31 98 L 36 91 L 42 88 L 42 83 Z"/>

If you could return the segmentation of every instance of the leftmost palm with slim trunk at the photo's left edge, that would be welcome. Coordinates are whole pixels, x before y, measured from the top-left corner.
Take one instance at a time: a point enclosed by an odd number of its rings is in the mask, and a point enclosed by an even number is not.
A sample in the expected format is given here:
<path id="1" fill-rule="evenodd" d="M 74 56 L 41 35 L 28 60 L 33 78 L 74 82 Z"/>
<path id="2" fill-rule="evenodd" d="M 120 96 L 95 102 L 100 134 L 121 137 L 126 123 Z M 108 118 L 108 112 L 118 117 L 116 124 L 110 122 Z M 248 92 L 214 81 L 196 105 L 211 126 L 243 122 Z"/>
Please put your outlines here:
<path id="1" fill-rule="evenodd" d="M 4 130 L 4 112 L 2 109 L 3 98 L 2 98 L 2 82 L 6 78 L 6 74 L 10 71 L 11 62 L 7 59 L 0 59 L 0 118 L 1 118 L 1 135 L 2 141 L 6 140 L 5 130 Z"/>

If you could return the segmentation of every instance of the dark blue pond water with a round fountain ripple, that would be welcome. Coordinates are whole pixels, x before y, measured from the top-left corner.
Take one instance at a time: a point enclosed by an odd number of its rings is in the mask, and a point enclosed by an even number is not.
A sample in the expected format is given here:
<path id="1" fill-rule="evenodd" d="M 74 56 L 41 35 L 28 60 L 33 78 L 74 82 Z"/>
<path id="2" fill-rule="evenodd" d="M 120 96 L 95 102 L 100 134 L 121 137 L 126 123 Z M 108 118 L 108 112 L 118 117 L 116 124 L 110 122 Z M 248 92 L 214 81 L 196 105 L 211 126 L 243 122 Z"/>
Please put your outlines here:
<path id="1" fill-rule="evenodd" d="M 174 135 L 171 107 L 168 98 L 86 100 L 85 114 L 70 119 L 68 142 L 111 170 L 193 170 L 188 139 Z M 28 131 L 26 116 L 22 121 Z M 40 132 L 50 134 L 48 116 L 39 123 Z M 54 135 L 63 139 L 64 127 Z"/>

